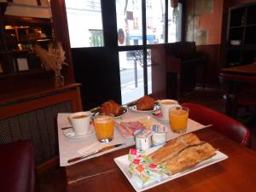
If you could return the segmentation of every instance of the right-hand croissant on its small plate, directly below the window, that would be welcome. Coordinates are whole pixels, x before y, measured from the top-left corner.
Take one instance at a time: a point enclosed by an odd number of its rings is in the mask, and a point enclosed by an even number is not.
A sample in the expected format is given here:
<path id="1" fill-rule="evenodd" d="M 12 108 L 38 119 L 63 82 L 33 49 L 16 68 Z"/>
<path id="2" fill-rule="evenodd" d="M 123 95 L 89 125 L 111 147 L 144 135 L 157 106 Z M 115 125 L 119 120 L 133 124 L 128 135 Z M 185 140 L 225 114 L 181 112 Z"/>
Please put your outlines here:
<path id="1" fill-rule="evenodd" d="M 143 96 L 135 102 L 127 103 L 126 106 L 132 112 L 138 113 L 154 113 L 160 110 L 159 103 L 150 96 Z"/>

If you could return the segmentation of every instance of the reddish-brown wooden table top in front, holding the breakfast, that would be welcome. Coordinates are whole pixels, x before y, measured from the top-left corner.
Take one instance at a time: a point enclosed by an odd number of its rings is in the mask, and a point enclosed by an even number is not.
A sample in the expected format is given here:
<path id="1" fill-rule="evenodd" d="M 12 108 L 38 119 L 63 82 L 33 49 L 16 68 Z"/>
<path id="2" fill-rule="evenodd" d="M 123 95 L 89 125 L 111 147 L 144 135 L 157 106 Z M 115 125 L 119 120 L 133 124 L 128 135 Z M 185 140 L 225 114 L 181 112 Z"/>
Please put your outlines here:
<path id="1" fill-rule="evenodd" d="M 242 147 L 210 128 L 196 131 L 195 134 L 227 154 L 229 158 L 147 191 L 255 191 L 256 152 Z M 135 191 L 113 161 L 113 158 L 128 154 L 128 151 L 129 148 L 123 148 L 65 167 L 67 191 Z"/>

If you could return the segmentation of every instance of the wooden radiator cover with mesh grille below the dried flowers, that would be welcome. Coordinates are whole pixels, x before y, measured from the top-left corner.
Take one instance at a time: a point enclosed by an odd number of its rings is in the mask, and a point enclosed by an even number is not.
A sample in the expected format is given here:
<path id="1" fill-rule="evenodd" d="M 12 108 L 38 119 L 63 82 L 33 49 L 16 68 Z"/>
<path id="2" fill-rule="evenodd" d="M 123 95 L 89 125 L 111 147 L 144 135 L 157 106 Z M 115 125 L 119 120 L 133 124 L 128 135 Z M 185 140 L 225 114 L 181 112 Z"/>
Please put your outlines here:
<path id="1" fill-rule="evenodd" d="M 36 151 L 39 172 L 55 166 L 57 113 L 82 111 L 80 84 L 32 91 L 0 98 L 0 143 L 30 139 Z M 53 159 L 52 159 L 53 158 Z"/>

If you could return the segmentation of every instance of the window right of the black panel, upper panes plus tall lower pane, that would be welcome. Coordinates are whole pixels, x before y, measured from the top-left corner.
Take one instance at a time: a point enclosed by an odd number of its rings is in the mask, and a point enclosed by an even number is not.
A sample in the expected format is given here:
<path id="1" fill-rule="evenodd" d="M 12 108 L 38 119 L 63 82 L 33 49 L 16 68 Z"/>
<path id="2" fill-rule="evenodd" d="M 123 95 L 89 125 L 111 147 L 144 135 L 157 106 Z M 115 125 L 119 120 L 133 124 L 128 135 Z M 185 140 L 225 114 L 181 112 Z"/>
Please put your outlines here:
<path id="1" fill-rule="evenodd" d="M 168 42 L 180 40 L 180 8 L 172 9 L 169 4 L 166 21 L 165 0 L 116 0 L 123 104 L 152 93 L 151 49 L 148 47 L 151 44 L 164 44 L 166 39 Z M 143 32 L 146 37 L 143 37 Z"/>

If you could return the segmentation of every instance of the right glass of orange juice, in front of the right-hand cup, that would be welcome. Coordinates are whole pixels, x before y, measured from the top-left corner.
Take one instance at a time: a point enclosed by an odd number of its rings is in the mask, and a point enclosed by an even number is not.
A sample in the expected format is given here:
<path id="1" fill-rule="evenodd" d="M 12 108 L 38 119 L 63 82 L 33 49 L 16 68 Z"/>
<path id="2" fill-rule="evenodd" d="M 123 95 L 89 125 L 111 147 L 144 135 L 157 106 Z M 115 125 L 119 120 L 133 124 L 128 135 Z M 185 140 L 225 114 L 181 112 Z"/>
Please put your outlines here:
<path id="1" fill-rule="evenodd" d="M 172 132 L 183 133 L 187 130 L 189 108 L 179 106 L 169 109 L 169 122 Z"/>

